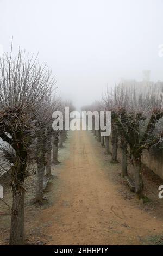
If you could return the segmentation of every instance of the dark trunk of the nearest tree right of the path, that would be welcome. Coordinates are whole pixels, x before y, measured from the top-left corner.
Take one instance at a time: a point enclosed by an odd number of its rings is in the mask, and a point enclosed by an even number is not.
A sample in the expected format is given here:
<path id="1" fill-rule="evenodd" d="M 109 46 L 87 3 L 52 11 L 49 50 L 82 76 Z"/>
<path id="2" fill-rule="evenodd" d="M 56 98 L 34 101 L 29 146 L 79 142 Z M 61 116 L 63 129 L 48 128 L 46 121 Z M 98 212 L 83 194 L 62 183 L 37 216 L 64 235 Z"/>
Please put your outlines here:
<path id="1" fill-rule="evenodd" d="M 133 157 L 133 165 L 134 165 L 136 197 L 137 197 L 137 199 L 141 200 L 144 197 L 141 155 Z"/>

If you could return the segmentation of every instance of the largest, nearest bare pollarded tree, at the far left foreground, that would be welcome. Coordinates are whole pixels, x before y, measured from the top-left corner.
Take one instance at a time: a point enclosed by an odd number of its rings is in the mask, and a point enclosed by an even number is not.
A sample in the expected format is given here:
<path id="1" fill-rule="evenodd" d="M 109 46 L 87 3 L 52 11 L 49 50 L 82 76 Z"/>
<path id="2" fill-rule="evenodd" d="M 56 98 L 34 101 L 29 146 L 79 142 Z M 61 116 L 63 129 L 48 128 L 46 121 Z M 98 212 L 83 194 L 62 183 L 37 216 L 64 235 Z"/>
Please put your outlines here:
<path id="1" fill-rule="evenodd" d="M 27 59 L 20 51 L 15 59 L 0 60 L 0 137 L 7 142 L 14 157 L 10 170 L 12 214 L 10 244 L 24 243 L 24 180 L 29 148 L 35 133 L 37 117 L 53 85 L 47 66 Z"/>

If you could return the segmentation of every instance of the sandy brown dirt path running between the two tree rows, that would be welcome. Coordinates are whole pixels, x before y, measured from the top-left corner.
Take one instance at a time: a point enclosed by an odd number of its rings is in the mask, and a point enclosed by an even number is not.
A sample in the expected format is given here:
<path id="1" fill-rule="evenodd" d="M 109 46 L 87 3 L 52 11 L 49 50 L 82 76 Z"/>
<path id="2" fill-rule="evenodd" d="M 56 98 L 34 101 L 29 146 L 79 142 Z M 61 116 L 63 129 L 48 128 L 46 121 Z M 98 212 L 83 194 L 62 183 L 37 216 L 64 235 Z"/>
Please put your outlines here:
<path id="1" fill-rule="evenodd" d="M 109 179 L 114 166 L 101 161 L 101 146 L 92 133 L 74 131 L 71 136 L 70 155 L 51 184 L 55 203 L 37 220 L 48 221 L 43 231 L 51 235 L 49 244 L 132 245 L 161 234 L 163 221 L 125 200 L 121 185 Z"/>

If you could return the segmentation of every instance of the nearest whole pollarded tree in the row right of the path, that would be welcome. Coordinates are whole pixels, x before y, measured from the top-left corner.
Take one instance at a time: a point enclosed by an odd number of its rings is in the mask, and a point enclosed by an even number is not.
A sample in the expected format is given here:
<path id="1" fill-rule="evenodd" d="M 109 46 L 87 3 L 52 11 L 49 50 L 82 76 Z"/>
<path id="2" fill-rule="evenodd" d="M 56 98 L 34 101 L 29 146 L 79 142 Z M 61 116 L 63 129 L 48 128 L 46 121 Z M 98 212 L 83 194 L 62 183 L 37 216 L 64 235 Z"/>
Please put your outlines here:
<path id="1" fill-rule="evenodd" d="M 123 86 L 116 87 L 114 92 L 115 105 L 112 115 L 121 138 L 130 147 L 138 199 L 144 197 L 142 151 L 153 144 L 152 141 L 148 141 L 148 137 L 163 116 L 162 99 L 162 88 L 156 85 L 149 88 L 148 93 L 137 92 L 135 88 L 126 89 Z"/>

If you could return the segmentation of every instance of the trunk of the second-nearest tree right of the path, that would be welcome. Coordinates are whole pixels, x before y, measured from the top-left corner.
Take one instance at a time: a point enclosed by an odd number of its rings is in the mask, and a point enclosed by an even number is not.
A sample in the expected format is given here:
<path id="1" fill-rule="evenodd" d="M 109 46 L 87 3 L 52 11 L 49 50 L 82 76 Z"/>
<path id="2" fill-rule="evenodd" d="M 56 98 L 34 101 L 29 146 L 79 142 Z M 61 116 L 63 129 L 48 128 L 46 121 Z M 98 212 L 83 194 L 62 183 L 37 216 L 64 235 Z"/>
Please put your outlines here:
<path id="1" fill-rule="evenodd" d="M 127 142 L 121 138 L 121 153 L 122 153 L 122 162 L 121 162 L 121 170 L 122 177 L 128 176 L 127 173 Z"/>

